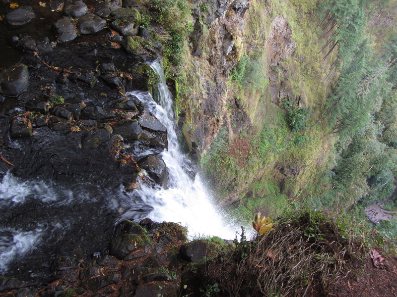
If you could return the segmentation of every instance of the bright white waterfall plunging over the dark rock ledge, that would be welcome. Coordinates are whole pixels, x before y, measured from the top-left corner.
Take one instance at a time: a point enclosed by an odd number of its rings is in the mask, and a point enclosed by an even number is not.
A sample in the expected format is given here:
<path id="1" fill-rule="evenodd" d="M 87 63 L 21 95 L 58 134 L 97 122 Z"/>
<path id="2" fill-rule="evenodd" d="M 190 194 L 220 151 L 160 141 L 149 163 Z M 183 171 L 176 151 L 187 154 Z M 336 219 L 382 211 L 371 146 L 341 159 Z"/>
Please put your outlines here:
<path id="1" fill-rule="evenodd" d="M 143 201 L 154 209 L 149 217 L 154 221 L 172 221 L 188 227 L 189 237 L 218 236 L 234 239 L 237 227 L 231 218 L 226 218 L 220 207 L 211 203 L 199 174 L 194 181 L 183 169 L 187 160 L 182 154 L 176 133 L 176 117 L 173 98 L 165 83 L 164 71 L 159 60 L 150 64 L 159 75 L 159 104 L 148 92 L 132 92 L 131 95 L 141 100 L 156 118 L 167 128 L 168 150 L 161 156 L 169 173 L 169 188 L 156 190 L 142 184 L 136 190 Z"/>

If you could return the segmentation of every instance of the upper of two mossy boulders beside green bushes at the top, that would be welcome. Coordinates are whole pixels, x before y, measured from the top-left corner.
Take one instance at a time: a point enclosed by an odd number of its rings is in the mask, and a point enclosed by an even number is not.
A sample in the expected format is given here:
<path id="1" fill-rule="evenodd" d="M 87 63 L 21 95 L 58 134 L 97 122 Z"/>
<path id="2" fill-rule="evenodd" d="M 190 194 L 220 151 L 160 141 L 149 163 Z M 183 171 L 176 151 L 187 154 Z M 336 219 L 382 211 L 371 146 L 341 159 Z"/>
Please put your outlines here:
<path id="1" fill-rule="evenodd" d="M 138 34 L 141 23 L 140 13 L 135 8 L 119 8 L 110 14 L 112 22 L 110 27 L 123 36 L 135 36 Z"/>

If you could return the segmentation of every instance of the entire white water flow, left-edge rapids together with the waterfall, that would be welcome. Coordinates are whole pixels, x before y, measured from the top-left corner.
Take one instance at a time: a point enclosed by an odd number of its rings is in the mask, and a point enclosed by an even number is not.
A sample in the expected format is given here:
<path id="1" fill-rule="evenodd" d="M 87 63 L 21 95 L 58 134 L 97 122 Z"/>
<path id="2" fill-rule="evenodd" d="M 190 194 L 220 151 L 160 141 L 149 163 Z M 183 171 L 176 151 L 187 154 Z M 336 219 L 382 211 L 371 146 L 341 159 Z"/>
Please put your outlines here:
<path id="1" fill-rule="evenodd" d="M 150 217 L 156 222 L 180 223 L 187 226 L 190 239 L 199 236 L 235 238 L 239 225 L 233 224 L 231 218 L 222 214 L 220 207 L 211 203 L 199 174 L 192 181 L 183 169 L 190 161 L 182 154 L 177 141 L 172 95 L 165 84 L 160 62 L 155 61 L 150 66 L 160 76 L 160 105 L 149 92 L 130 94 L 141 100 L 168 130 L 168 150 L 160 154 L 168 169 L 168 189 L 154 189 L 144 183 L 134 193 L 126 193 L 121 185 L 112 189 L 89 184 L 63 188 L 34 179 L 21 181 L 8 172 L 0 182 L 0 209 L 3 215 L 7 214 L 7 218 L 0 221 L 0 273 L 10 268 L 13 260 L 33 254 L 40 256 L 41 250 L 61 248 L 64 237 L 67 240 L 70 232 L 84 233 L 87 229 L 94 232 L 97 228 L 95 232 L 100 233 L 114 222 L 115 217 L 118 217 L 116 222 L 123 218 Z M 18 149 L 17 141 L 14 145 Z M 157 152 L 148 149 L 140 152 L 137 158 Z M 14 219 L 22 208 L 23 222 Z M 74 210 L 69 211 L 70 208 Z M 35 217 L 36 209 L 44 213 Z M 91 213 L 91 224 L 85 221 L 86 209 L 96 209 Z M 105 217 L 106 213 L 109 217 Z"/>

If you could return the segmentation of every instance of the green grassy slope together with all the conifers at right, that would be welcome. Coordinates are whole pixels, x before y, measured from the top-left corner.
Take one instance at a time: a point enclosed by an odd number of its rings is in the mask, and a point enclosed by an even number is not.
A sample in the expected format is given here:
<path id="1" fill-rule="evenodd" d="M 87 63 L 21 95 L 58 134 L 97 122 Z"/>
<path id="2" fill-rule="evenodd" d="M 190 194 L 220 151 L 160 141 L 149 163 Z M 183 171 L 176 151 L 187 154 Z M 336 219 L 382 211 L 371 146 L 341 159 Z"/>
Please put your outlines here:
<path id="1" fill-rule="evenodd" d="M 371 228 L 363 208 L 396 187 L 395 8 L 251 1 L 222 128 L 201 158 L 234 215 L 308 205 Z"/>

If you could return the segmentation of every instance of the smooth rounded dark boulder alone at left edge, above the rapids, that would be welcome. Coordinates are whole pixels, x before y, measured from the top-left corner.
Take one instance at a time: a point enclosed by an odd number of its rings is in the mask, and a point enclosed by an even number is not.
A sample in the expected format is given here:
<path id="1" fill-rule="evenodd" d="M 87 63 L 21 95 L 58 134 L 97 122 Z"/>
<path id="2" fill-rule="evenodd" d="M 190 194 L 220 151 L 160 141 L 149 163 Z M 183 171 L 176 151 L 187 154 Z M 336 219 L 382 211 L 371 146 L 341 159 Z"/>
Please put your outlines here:
<path id="1" fill-rule="evenodd" d="M 1 73 L 1 92 L 5 96 L 17 97 L 29 86 L 28 67 L 22 63 L 13 65 Z"/>

